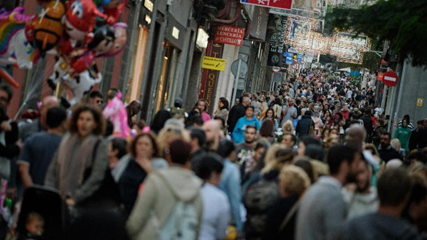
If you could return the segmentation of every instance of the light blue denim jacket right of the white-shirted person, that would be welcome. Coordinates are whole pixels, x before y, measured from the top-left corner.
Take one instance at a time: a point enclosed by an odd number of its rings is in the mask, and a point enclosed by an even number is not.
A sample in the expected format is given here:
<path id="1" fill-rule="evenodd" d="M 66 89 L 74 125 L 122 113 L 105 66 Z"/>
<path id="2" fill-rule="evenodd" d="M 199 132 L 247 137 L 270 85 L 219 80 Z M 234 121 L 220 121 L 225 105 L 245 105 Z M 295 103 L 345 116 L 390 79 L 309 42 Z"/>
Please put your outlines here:
<path id="1" fill-rule="evenodd" d="M 243 224 L 240 217 L 240 205 L 242 203 L 242 198 L 239 167 L 227 159 L 225 159 L 223 163 L 224 169 L 222 170 L 221 181 L 219 182 L 218 187 L 227 194 L 230 201 L 232 219 L 236 224 L 236 229 L 238 231 L 242 231 Z"/>

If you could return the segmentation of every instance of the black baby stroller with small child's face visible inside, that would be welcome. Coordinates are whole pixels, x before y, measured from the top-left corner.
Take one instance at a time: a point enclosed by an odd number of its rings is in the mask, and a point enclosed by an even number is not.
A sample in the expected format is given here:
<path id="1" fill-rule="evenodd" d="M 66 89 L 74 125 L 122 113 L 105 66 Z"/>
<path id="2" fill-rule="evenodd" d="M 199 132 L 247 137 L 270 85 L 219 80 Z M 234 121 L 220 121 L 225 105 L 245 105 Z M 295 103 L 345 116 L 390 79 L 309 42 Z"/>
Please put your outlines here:
<path id="1" fill-rule="evenodd" d="M 68 224 L 66 204 L 55 189 L 27 188 L 16 225 L 16 240 L 64 239 Z"/>

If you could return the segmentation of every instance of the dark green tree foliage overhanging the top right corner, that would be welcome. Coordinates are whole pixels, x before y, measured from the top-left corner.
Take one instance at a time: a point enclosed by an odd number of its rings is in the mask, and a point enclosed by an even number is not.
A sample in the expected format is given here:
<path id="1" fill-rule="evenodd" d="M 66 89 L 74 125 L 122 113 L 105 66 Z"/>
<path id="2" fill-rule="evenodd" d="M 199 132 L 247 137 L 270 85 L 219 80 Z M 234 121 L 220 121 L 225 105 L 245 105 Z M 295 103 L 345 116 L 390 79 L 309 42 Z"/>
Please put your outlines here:
<path id="1" fill-rule="evenodd" d="M 427 0 L 379 0 L 360 9 L 337 7 L 325 24 L 342 31 L 363 33 L 382 42 L 390 40 L 400 59 L 427 65 Z"/>

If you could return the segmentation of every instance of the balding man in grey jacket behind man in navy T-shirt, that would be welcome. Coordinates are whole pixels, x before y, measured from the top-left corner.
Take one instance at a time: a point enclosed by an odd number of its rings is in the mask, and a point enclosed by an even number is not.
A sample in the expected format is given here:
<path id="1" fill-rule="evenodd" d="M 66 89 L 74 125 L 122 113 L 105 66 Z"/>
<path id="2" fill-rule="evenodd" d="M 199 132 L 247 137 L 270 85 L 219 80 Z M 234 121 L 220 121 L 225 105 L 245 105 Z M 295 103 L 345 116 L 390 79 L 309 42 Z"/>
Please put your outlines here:
<path id="1" fill-rule="evenodd" d="M 34 120 L 31 123 L 25 123 L 19 126 L 19 139 L 24 142 L 24 140 L 29 137 L 31 134 L 43 131 L 47 129 L 46 125 L 46 115 L 50 108 L 58 107 L 59 100 L 55 96 L 46 96 L 42 100 L 42 105 L 40 106 L 40 118 Z"/>

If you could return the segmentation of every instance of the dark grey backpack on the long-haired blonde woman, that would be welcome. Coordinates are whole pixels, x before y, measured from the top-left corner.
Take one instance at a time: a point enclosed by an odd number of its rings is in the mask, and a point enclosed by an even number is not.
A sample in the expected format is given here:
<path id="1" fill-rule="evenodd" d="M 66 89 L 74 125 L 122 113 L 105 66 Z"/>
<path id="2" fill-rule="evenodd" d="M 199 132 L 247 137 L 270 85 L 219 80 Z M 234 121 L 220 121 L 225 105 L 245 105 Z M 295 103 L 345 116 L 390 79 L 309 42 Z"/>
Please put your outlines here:
<path id="1" fill-rule="evenodd" d="M 243 197 L 247 216 L 245 231 L 248 237 L 261 236 L 265 229 L 268 209 L 279 199 L 278 183 L 261 178 L 248 187 Z"/>

